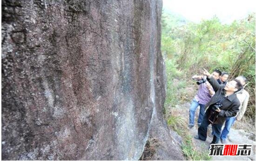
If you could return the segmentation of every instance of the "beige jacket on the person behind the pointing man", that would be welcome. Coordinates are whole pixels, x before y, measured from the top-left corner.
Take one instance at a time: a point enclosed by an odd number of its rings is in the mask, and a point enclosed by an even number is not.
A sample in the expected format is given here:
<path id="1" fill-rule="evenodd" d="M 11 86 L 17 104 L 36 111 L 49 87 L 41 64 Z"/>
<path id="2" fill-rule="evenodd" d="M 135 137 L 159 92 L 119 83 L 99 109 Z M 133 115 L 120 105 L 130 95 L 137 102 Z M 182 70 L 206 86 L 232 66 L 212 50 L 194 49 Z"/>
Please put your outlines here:
<path id="1" fill-rule="evenodd" d="M 236 114 L 236 120 L 241 120 L 243 117 L 243 114 L 245 113 L 248 101 L 249 101 L 249 93 L 245 90 L 242 89 L 238 93 L 236 93 L 236 97 L 240 101 L 240 111 Z"/>

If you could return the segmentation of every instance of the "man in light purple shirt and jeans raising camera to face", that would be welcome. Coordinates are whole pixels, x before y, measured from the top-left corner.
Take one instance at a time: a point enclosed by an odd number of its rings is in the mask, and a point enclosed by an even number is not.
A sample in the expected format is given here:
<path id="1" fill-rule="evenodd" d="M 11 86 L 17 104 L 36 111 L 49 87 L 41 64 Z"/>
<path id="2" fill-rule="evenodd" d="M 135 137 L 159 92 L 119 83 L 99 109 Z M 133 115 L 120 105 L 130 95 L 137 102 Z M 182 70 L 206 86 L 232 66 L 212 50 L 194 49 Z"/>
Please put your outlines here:
<path id="1" fill-rule="evenodd" d="M 222 74 L 221 71 L 214 70 L 214 72 L 211 75 L 214 79 L 217 80 L 219 79 L 221 74 Z M 205 108 L 204 108 L 205 104 L 208 103 L 211 100 L 211 97 L 215 94 L 213 88 L 211 87 L 209 82 L 206 80 L 206 77 L 194 75 L 192 79 L 198 80 L 196 84 L 199 85 L 199 88 L 189 108 L 189 125 L 188 125 L 189 129 L 194 127 L 195 110 L 198 106 L 200 106 L 200 112 L 199 112 L 197 124 L 198 126 L 201 125 L 202 118 L 205 111 Z"/>

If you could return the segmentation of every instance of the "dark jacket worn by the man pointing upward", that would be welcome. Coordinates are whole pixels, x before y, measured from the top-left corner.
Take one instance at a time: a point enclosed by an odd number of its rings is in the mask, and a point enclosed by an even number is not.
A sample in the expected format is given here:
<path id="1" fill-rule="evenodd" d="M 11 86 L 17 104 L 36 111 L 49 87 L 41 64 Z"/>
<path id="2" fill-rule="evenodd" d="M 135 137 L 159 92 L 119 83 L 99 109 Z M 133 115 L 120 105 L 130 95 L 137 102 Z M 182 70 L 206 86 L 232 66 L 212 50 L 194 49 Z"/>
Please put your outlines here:
<path id="1" fill-rule="evenodd" d="M 207 78 L 209 83 L 212 85 L 215 94 L 211 98 L 211 100 L 205 105 L 206 107 L 206 114 L 209 114 L 212 110 L 213 104 L 216 104 L 220 99 L 225 96 L 225 85 L 219 84 L 217 80 L 215 80 L 212 76 Z M 227 117 L 236 116 L 237 112 L 239 112 L 240 101 L 237 99 L 236 94 L 231 94 L 222 101 L 222 107 L 220 108 L 221 111 L 217 115 L 217 120 L 215 124 L 223 124 Z"/>

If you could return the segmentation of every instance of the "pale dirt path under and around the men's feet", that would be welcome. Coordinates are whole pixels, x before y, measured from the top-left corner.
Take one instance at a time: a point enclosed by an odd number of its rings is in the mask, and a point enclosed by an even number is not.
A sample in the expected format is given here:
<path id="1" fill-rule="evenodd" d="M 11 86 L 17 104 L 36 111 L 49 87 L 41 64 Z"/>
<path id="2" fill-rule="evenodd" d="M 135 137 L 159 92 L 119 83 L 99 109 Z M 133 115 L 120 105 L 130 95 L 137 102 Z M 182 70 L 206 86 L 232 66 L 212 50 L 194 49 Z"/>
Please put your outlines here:
<path id="1" fill-rule="evenodd" d="M 186 123 L 189 122 L 189 107 L 190 102 L 187 102 L 183 105 L 176 105 L 172 108 L 172 114 L 175 116 L 180 116 L 182 118 L 186 118 Z M 197 134 L 197 117 L 199 114 L 199 107 L 196 110 L 195 114 L 195 127 L 192 127 L 188 130 L 188 133 L 192 136 Z M 187 127 L 184 127 L 187 128 Z M 222 127 L 223 128 L 223 127 Z M 193 138 L 193 143 L 195 145 L 195 149 L 197 151 L 205 151 L 209 152 L 208 148 L 210 142 L 212 141 L 211 135 L 211 125 L 208 127 L 208 137 L 206 141 L 200 141 Z M 221 142 L 219 142 L 221 144 Z M 251 144 L 253 145 L 253 150 L 250 156 L 213 156 L 212 160 L 220 160 L 220 161 L 235 161 L 235 160 L 242 160 L 242 161 L 255 161 L 255 126 L 250 124 L 246 121 L 236 121 L 235 125 L 231 127 L 231 130 L 228 135 L 228 144 Z"/>

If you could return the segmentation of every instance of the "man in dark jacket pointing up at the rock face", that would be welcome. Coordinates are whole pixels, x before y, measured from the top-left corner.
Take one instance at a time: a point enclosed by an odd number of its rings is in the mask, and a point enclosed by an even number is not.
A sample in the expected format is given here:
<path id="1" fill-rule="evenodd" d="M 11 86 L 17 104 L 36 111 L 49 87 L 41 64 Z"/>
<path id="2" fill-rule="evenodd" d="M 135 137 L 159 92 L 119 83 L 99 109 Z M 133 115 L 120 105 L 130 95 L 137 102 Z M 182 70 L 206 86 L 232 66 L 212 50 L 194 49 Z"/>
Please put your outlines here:
<path id="1" fill-rule="evenodd" d="M 204 75 L 212 85 L 215 94 L 205 105 L 207 107 L 203 116 L 201 126 L 198 128 L 198 135 L 195 139 L 206 141 L 207 127 L 212 124 L 214 137 L 211 144 L 216 144 L 220 140 L 221 128 L 227 117 L 236 116 L 239 112 L 240 101 L 235 92 L 243 88 L 239 80 L 231 80 L 226 85 L 220 85 L 207 70 L 204 69 Z"/>

